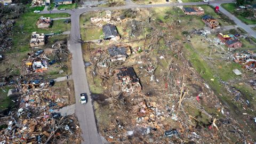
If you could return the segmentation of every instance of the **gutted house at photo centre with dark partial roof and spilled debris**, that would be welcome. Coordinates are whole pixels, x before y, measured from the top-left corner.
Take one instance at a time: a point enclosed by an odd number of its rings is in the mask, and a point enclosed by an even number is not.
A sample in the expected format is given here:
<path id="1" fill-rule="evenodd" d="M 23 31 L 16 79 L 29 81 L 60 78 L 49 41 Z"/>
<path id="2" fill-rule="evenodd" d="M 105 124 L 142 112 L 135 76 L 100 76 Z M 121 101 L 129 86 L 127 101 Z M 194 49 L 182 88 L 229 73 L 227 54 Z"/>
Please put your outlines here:
<path id="1" fill-rule="evenodd" d="M 140 92 L 141 85 L 132 67 L 115 69 L 117 82 L 121 86 L 121 91 L 126 93 Z"/>

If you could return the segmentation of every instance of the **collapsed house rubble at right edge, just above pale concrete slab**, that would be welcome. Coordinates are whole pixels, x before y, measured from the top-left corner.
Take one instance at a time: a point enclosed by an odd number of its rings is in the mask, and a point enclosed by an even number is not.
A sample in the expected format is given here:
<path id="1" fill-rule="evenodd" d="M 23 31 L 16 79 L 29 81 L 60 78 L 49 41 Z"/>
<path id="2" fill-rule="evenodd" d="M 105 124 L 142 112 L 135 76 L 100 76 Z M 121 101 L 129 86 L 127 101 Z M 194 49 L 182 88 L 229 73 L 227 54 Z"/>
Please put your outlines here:
<path id="1" fill-rule="evenodd" d="M 240 63 L 243 68 L 256 73 L 256 54 L 252 51 L 235 53 L 233 59 L 236 63 Z"/>

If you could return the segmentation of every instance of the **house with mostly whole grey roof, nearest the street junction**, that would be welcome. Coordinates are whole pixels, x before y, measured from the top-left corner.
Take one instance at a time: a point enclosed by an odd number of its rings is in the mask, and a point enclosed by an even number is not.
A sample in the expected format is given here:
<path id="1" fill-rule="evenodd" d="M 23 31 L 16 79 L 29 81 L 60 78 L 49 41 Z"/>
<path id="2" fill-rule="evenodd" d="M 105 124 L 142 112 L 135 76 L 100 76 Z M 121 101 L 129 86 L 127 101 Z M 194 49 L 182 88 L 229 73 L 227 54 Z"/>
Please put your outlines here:
<path id="1" fill-rule="evenodd" d="M 102 26 L 102 31 L 104 34 L 104 39 L 113 39 L 114 41 L 117 41 L 120 39 L 120 35 L 118 34 L 118 31 L 116 29 L 116 26 L 111 24 L 106 24 Z"/>

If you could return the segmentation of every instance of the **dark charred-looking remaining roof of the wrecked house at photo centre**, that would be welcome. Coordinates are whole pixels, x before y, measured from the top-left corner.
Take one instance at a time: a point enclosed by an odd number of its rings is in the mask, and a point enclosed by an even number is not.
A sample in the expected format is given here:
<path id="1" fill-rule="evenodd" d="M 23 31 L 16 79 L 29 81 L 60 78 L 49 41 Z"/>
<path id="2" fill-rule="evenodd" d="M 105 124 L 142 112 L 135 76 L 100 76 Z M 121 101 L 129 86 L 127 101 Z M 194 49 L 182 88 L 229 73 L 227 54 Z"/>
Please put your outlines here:
<path id="1" fill-rule="evenodd" d="M 123 77 L 130 77 L 131 82 L 139 82 L 139 78 L 136 76 L 132 67 L 124 67 L 119 70 L 120 71 L 117 74 L 118 80 L 122 80 Z"/>

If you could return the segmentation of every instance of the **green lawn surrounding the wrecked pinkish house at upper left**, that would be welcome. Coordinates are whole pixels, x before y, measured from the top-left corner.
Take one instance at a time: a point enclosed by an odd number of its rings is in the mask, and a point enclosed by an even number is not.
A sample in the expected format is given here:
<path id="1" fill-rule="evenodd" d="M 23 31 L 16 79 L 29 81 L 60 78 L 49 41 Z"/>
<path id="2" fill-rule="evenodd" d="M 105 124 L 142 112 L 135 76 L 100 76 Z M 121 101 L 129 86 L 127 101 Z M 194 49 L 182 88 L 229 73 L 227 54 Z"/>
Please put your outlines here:
<path id="1" fill-rule="evenodd" d="M 67 13 L 54 13 L 54 14 L 38 14 L 33 12 L 26 12 L 16 21 L 13 31 L 13 49 L 11 52 L 25 52 L 29 50 L 29 39 L 33 31 L 37 33 L 54 33 L 59 30 L 67 31 L 70 29 L 69 24 L 62 24 L 63 20 L 56 20 L 53 22 L 53 26 L 47 29 L 39 29 L 36 26 L 37 19 L 39 17 L 51 17 L 51 18 L 65 18 L 70 17 Z M 22 31 L 23 26 L 23 31 Z M 21 33 L 23 32 L 23 33 Z"/>

